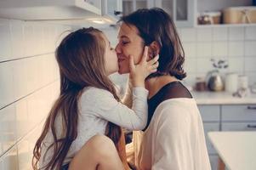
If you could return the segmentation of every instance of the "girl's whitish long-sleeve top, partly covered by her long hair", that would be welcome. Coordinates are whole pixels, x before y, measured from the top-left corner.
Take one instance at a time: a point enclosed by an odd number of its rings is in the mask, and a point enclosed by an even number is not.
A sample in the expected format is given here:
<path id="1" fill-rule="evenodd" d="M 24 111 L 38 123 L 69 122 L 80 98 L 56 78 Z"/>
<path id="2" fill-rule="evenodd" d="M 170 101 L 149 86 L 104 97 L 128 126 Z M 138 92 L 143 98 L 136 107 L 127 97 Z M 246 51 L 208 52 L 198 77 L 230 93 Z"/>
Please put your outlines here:
<path id="1" fill-rule="evenodd" d="M 72 142 L 63 165 L 71 161 L 88 139 L 96 134 L 105 134 L 105 127 L 108 122 L 113 122 L 129 130 L 143 129 L 148 114 L 147 96 L 148 91 L 145 88 L 133 88 L 133 108 L 129 109 L 104 89 L 85 88 L 78 102 L 80 112 L 77 123 L 77 139 Z M 57 137 L 60 138 L 63 129 L 60 114 L 56 118 L 55 128 Z M 51 131 L 48 131 L 46 138 L 43 140 L 39 167 L 45 166 L 52 158 L 53 150 L 45 153 L 49 144 L 52 143 L 53 135 Z M 44 157 L 45 159 L 43 159 Z"/>

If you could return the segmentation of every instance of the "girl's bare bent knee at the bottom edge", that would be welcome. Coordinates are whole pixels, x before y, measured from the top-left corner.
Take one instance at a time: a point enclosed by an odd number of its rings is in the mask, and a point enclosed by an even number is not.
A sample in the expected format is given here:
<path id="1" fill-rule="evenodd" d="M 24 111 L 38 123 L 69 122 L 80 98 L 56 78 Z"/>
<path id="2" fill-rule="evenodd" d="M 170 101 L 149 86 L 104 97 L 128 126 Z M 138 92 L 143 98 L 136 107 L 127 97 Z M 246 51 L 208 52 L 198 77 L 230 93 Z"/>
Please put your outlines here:
<path id="1" fill-rule="evenodd" d="M 115 144 L 105 135 L 95 135 L 72 159 L 69 170 L 123 170 Z"/>

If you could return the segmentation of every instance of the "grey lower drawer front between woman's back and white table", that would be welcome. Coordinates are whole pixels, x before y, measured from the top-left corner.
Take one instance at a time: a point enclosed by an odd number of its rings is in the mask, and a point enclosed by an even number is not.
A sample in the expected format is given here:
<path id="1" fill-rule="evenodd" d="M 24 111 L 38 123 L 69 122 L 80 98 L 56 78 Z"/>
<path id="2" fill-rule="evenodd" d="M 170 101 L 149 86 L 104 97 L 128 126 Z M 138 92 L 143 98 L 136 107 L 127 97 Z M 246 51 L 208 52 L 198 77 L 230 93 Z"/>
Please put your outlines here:
<path id="1" fill-rule="evenodd" d="M 204 135 L 206 139 L 206 144 L 208 147 L 208 154 L 216 154 L 216 150 L 213 147 L 213 144 L 210 142 L 208 139 L 208 132 L 213 132 L 213 131 L 219 131 L 219 123 L 217 122 L 205 122 L 203 123 L 203 128 L 204 128 Z"/>

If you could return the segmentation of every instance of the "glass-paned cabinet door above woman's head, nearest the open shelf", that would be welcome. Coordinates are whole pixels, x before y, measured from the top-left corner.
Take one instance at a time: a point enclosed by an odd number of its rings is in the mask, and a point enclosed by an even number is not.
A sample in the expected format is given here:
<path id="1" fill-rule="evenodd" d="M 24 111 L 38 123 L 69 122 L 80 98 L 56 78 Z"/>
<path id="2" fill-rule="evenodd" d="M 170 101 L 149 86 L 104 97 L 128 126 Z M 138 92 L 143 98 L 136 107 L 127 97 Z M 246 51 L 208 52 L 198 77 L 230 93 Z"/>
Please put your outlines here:
<path id="1" fill-rule="evenodd" d="M 170 14 L 176 26 L 194 26 L 195 0 L 156 0 L 155 5 Z"/>

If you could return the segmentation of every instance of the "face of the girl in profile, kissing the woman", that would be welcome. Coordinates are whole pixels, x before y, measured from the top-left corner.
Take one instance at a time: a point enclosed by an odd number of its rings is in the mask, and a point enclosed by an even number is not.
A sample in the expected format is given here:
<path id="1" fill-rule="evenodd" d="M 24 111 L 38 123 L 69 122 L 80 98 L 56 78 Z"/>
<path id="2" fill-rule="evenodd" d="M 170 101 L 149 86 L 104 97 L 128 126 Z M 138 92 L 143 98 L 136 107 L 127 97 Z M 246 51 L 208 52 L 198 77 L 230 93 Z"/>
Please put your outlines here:
<path id="1" fill-rule="evenodd" d="M 109 76 L 118 71 L 117 53 L 115 48 L 111 47 L 111 42 L 103 35 L 105 40 L 105 71 Z"/>

